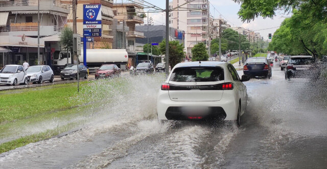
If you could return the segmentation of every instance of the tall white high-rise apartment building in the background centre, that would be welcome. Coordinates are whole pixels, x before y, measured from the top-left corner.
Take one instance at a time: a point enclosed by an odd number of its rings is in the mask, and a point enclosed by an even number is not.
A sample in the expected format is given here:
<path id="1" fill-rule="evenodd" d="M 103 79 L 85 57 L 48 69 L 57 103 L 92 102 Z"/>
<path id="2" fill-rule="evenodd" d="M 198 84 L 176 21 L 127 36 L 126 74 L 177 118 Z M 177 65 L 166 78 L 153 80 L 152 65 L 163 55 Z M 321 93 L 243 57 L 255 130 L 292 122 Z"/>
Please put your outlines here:
<path id="1" fill-rule="evenodd" d="M 186 2 L 189 3 L 185 4 Z M 208 46 L 209 41 L 212 39 L 211 36 L 208 36 L 209 32 L 213 32 L 212 19 L 208 15 L 209 3 L 207 0 L 194 0 L 191 2 L 173 0 L 170 2 L 170 9 L 175 8 L 176 10 L 169 14 L 169 25 L 186 32 L 184 47 L 188 57 L 192 57 L 194 45 L 203 42 Z M 185 10 L 186 8 L 193 10 Z"/>

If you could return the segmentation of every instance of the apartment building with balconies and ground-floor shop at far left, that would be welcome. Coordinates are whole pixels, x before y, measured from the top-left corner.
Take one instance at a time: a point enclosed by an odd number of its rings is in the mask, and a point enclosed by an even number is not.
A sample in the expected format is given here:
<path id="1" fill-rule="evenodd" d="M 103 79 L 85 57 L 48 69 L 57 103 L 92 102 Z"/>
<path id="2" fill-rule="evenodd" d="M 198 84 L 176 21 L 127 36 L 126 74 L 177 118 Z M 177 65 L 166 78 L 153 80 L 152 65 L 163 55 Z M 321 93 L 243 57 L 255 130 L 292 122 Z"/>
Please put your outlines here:
<path id="1" fill-rule="evenodd" d="M 67 23 L 69 5 L 59 0 L 40 0 L 40 55 L 38 57 L 38 1 L 0 1 L 0 67 L 7 64 L 52 64 L 52 54 L 60 50 L 60 31 Z"/>

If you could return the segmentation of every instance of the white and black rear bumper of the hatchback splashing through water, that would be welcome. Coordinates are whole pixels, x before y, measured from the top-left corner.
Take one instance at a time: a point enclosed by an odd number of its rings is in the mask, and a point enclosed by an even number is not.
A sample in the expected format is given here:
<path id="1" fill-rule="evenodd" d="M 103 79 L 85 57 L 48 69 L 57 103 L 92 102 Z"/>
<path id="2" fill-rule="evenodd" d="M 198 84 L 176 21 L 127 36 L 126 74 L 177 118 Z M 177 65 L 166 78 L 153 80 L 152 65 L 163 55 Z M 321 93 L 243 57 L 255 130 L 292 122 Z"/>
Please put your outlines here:
<path id="1" fill-rule="evenodd" d="M 238 101 L 232 91 L 224 91 L 220 101 L 172 101 L 168 91 L 159 91 L 157 100 L 157 113 L 159 120 L 188 120 L 190 116 L 201 117 L 203 120 L 220 119 L 236 120 L 238 112 Z M 207 112 L 191 114 L 182 111 L 182 107 L 208 107 Z M 199 119 L 197 119 L 199 120 Z"/>

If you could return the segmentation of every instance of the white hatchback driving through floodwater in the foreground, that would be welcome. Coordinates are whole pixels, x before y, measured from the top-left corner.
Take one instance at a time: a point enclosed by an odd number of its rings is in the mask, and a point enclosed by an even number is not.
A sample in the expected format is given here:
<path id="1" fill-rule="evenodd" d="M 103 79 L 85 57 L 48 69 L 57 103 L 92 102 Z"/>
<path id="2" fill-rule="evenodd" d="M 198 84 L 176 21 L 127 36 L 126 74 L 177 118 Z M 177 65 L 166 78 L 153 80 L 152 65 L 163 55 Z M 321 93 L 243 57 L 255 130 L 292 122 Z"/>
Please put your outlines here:
<path id="1" fill-rule="evenodd" d="M 159 90 L 158 120 L 226 120 L 240 126 L 248 80 L 226 62 L 177 64 Z"/>

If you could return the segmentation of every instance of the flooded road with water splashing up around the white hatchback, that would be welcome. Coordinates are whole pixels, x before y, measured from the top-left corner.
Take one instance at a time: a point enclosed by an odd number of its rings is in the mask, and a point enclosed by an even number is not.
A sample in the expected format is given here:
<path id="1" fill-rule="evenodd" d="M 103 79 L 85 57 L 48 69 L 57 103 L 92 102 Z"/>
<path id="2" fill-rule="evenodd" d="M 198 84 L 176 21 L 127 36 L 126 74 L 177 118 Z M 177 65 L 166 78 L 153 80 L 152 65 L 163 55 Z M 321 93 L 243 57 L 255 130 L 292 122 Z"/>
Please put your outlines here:
<path id="1" fill-rule="evenodd" d="M 239 71 L 241 75 L 242 72 Z M 128 77 L 126 89 L 94 99 L 85 127 L 0 155 L 0 168 L 325 168 L 327 87 L 308 79 L 251 79 L 241 128 L 225 123 L 158 124 L 156 94 L 164 77 Z M 107 97 L 107 98 L 106 98 Z M 82 99 L 82 98 L 81 98 Z"/>

